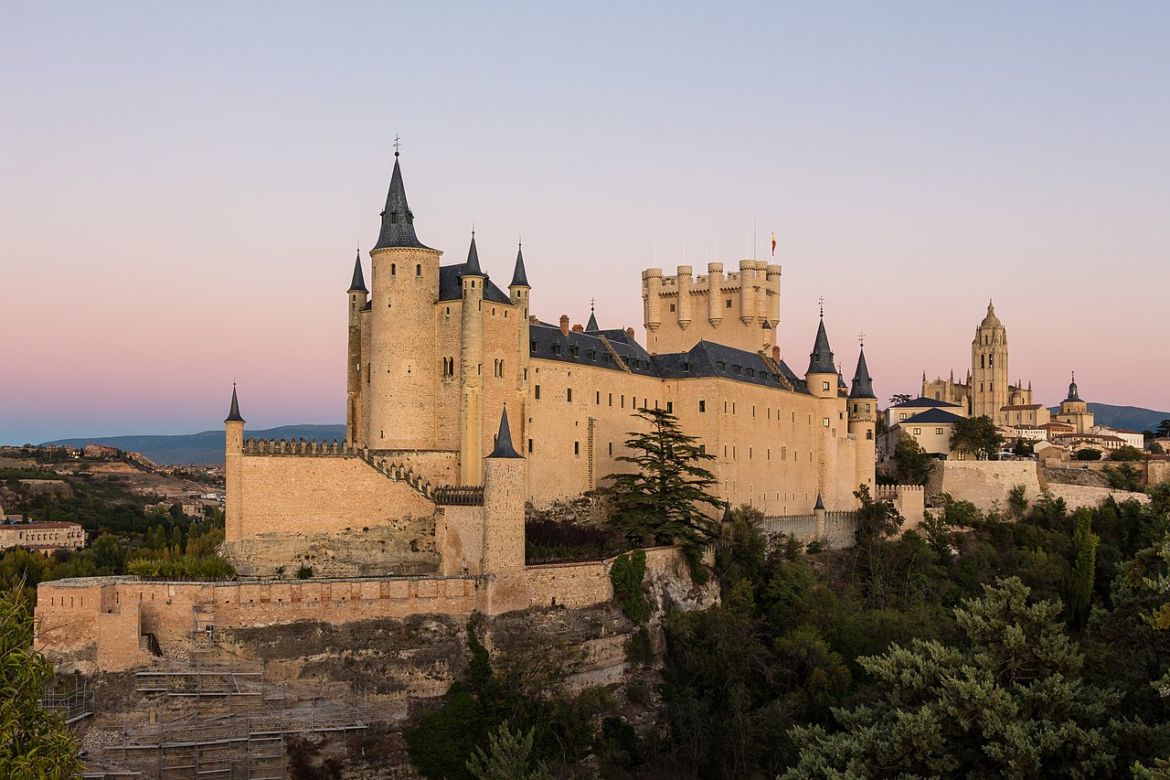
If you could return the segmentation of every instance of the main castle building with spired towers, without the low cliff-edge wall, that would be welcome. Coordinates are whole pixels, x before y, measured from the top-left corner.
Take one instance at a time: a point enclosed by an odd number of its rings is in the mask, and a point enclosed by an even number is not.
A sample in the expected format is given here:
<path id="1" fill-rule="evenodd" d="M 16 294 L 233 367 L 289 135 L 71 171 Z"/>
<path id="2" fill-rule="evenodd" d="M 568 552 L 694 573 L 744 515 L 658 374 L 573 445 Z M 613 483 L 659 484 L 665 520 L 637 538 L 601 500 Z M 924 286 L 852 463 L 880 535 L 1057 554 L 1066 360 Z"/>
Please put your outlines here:
<path id="1" fill-rule="evenodd" d="M 865 356 L 849 390 L 821 319 L 803 376 L 780 358 L 779 266 L 743 260 L 724 274 L 713 262 L 697 279 L 689 266 L 645 271 L 647 349 L 592 314 L 574 327 L 532 316 L 522 249 L 507 292 L 474 234 L 463 262 L 441 256 L 419 238 L 395 158 L 369 287 L 359 254 L 346 292 L 346 442 L 243 442 L 229 416 L 229 542 L 393 518 L 410 531 L 399 539 L 422 540 L 399 550 L 400 566 L 474 572 L 486 542 L 459 515 L 487 501 L 484 457 L 505 413 L 521 505 L 580 495 L 628 467 L 618 458 L 642 408 L 672 411 L 715 456 L 732 505 L 798 514 L 820 494 L 849 509 L 858 486 L 873 485 L 878 404 Z"/>

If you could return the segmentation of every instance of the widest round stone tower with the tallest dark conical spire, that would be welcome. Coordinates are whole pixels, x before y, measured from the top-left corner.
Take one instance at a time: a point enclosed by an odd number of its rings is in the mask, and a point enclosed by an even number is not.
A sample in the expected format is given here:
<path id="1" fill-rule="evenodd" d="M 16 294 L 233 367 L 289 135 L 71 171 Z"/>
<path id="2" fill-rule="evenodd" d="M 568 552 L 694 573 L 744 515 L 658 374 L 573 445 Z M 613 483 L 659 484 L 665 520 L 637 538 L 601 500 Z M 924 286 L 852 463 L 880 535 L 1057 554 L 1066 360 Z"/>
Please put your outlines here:
<path id="1" fill-rule="evenodd" d="M 434 446 L 439 361 L 434 302 L 442 252 L 419 241 L 406 203 L 402 172 L 394 172 L 381 212 L 378 244 L 370 251 L 370 355 L 366 357 L 369 435 L 373 450 Z M 365 356 L 363 356 L 365 357 Z"/>

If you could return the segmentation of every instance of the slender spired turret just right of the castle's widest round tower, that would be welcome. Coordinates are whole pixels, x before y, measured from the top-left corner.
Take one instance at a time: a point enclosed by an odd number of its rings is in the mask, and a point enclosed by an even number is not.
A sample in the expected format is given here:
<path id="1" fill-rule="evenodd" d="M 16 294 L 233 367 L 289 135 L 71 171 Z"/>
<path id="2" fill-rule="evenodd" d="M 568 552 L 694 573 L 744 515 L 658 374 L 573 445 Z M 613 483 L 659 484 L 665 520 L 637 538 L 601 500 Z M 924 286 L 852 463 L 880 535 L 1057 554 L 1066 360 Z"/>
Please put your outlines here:
<path id="1" fill-rule="evenodd" d="M 459 446 L 460 485 L 483 484 L 483 283 L 475 232 L 467 249 L 467 265 L 460 285 L 463 294 L 460 320 L 460 382 L 462 385 L 461 439 Z"/>

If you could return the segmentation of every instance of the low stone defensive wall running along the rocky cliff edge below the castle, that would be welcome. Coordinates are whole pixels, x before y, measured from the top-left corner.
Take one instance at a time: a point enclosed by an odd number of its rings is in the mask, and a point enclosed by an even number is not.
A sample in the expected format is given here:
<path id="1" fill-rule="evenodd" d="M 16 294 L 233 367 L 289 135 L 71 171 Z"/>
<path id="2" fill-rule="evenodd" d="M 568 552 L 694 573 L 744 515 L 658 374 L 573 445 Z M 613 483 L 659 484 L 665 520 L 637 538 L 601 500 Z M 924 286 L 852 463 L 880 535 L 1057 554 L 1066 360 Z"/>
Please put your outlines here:
<path id="1" fill-rule="evenodd" d="M 686 563 L 674 547 L 646 550 L 647 576 L 681 577 Z M 613 598 L 615 559 L 525 567 L 522 605 L 589 607 Z M 156 582 L 135 576 L 78 577 L 37 587 L 36 649 L 67 668 L 119 671 L 161 652 L 186 657 L 222 629 L 302 620 L 349 623 L 418 614 L 467 616 L 493 610 L 493 575 Z M 153 651 L 152 651 L 153 649 Z"/>

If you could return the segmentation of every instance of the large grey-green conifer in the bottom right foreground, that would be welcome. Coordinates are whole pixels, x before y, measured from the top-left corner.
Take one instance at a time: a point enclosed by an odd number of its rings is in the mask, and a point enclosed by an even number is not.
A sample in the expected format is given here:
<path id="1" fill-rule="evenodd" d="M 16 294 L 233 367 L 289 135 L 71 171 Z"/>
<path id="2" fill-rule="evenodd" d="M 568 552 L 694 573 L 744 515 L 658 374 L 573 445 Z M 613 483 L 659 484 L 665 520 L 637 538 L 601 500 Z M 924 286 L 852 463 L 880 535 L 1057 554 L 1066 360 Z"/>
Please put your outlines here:
<path id="1" fill-rule="evenodd" d="M 835 710 L 841 731 L 798 726 L 797 778 L 1104 776 L 1116 695 L 1080 678 L 1058 602 L 999 580 L 955 617 L 959 646 L 915 639 L 860 658 L 880 698 Z"/>

